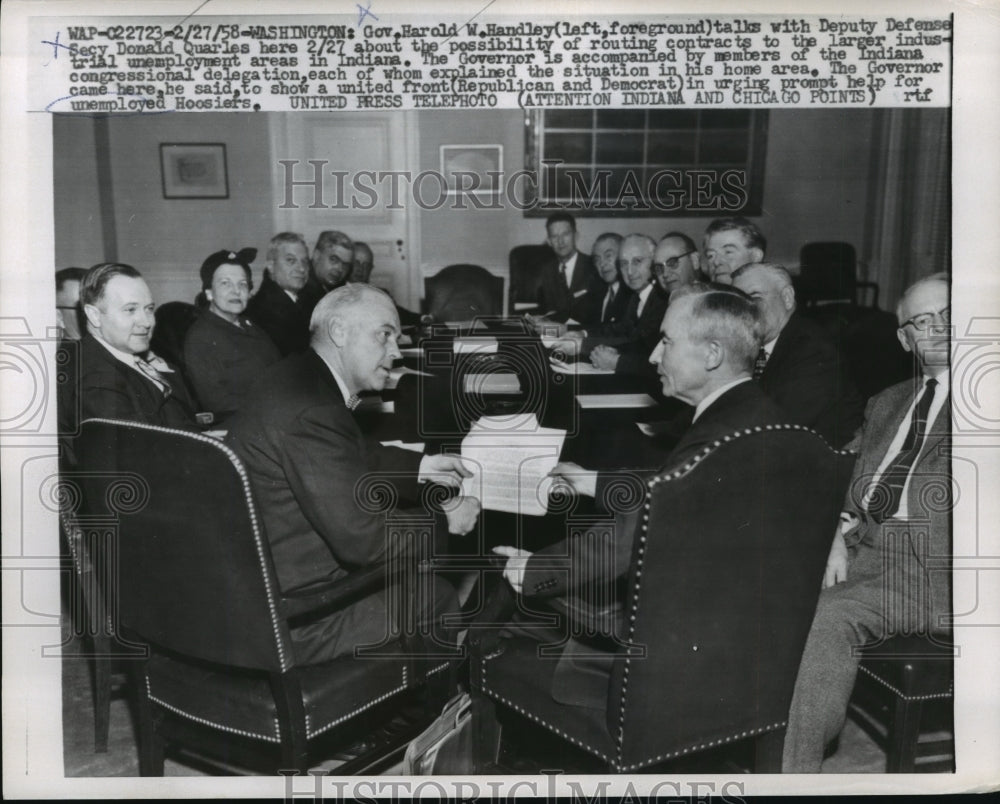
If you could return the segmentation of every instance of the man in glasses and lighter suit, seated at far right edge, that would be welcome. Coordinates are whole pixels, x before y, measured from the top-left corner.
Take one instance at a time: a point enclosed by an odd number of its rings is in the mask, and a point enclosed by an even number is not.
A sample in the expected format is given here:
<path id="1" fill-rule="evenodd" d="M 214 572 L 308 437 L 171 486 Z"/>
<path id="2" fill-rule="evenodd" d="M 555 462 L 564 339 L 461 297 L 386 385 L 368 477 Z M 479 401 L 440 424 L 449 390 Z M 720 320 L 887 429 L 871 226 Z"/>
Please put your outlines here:
<path id="1" fill-rule="evenodd" d="M 912 285 L 896 309 L 900 342 L 921 376 L 872 397 L 852 445 L 858 461 L 795 683 L 785 773 L 819 772 L 844 725 L 857 647 L 950 628 L 948 297 L 947 275 L 935 274 Z M 932 493 L 942 490 L 944 500 Z"/>

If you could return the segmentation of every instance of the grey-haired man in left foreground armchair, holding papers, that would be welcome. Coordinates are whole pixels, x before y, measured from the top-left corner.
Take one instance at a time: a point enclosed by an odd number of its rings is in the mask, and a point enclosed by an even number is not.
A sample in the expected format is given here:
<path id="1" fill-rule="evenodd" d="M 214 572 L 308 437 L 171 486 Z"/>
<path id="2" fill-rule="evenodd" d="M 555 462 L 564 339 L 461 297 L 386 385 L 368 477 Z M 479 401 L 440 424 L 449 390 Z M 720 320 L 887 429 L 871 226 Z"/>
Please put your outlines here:
<path id="1" fill-rule="evenodd" d="M 386 556 L 388 512 L 373 508 L 378 494 L 366 484 L 389 484 L 398 499 L 414 501 L 420 482 L 457 486 L 469 475 L 456 456 L 384 447 L 358 428 L 357 394 L 385 387 L 400 356 L 398 337 L 399 319 L 381 290 L 351 284 L 332 291 L 313 312 L 309 351 L 271 366 L 232 420 L 226 440 L 250 475 L 285 592 L 345 578 Z M 423 508 L 413 513 L 428 516 Z M 448 531 L 467 533 L 478 513 L 474 498 L 450 501 Z M 372 594 L 293 628 L 297 656 L 320 662 L 380 642 L 387 600 L 384 591 Z M 456 610 L 454 589 L 436 578 L 433 598 L 420 606 L 419 618 L 444 639 L 438 615 Z"/>

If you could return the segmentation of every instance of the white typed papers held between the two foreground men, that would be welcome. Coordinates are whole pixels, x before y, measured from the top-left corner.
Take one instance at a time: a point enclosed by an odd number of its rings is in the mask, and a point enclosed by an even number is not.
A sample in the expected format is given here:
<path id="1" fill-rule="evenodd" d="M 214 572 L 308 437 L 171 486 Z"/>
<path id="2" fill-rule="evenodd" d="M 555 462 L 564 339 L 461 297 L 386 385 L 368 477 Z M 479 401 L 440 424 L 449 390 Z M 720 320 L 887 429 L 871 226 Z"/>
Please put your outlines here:
<path id="1" fill-rule="evenodd" d="M 483 416 L 462 441 L 462 458 L 472 477 L 462 494 L 483 508 L 514 514 L 546 513 L 552 478 L 565 430 L 540 427 L 535 414 Z"/>

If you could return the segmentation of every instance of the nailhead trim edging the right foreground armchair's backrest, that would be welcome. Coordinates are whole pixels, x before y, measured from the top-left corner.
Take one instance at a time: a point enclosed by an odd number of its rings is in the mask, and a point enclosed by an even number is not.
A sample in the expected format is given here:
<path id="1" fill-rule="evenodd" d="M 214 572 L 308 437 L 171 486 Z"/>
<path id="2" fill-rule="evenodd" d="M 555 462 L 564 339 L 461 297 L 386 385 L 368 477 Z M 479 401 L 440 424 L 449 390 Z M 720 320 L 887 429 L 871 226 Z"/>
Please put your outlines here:
<path id="1" fill-rule="evenodd" d="M 684 464 L 684 466 L 681 467 L 680 469 L 676 469 L 673 472 L 670 472 L 670 473 L 667 473 L 667 474 L 664 474 L 664 475 L 658 475 L 658 476 L 650 479 L 646 483 L 646 486 L 648 488 L 648 491 L 646 493 L 646 503 L 645 503 L 645 509 L 646 509 L 646 511 L 648 512 L 649 509 L 650 509 L 650 505 L 651 505 L 650 496 L 652 494 L 653 489 L 658 484 L 660 484 L 660 483 L 666 483 L 666 482 L 669 482 L 670 480 L 677 480 L 677 479 L 679 479 L 681 477 L 684 477 L 688 472 L 690 472 L 692 469 L 694 469 L 695 466 L 697 466 L 701 461 L 703 461 L 705 458 L 707 458 L 712 452 L 714 452 L 716 449 L 718 449 L 722 444 L 729 443 L 730 441 L 735 441 L 736 439 L 742 438 L 743 436 L 753 435 L 754 433 L 761 433 L 761 432 L 764 432 L 765 430 L 767 430 L 767 431 L 774 431 L 774 430 L 805 430 L 806 432 L 813 433 L 813 435 L 816 435 L 818 438 L 822 438 L 822 436 L 820 436 L 815 431 L 810 430 L 808 427 L 803 427 L 800 424 L 768 424 L 768 425 L 765 425 L 763 427 L 760 427 L 760 426 L 754 427 L 754 428 L 749 428 L 748 427 L 748 428 L 746 428 L 744 430 L 737 431 L 737 432 L 733 433 L 732 435 L 727 435 L 724 438 L 718 439 L 715 442 L 713 442 L 712 444 L 706 446 L 700 453 L 698 453 L 697 455 L 695 455 L 688 463 Z M 830 445 L 826 442 L 825 439 L 823 440 L 823 443 L 826 444 L 827 447 L 830 447 Z M 831 449 L 831 451 L 835 452 L 838 455 L 849 454 L 848 450 L 835 450 L 832 447 L 830 447 L 830 449 Z M 642 576 L 642 563 L 643 563 L 643 556 L 645 555 L 645 552 L 646 552 L 646 539 L 648 537 L 648 534 L 649 534 L 649 515 L 647 513 L 646 515 L 643 516 L 642 532 L 641 532 L 641 534 L 639 536 L 639 546 L 638 546 L 638 550 L 637 550 L 637 561 L 636 561 L 636 569 L 635 569 L 636 583 L 635 583 L 635 587 L 634 587 L 634 591 L 636 593 L 638 593 L 638 591 L 639 591 L 639 578 Z M 635 635 L 635 621 L 636 621 L 637 613 L 639 611 L 639 595 L 638 594 L 633 594 L 632 601 L 633 601 L 632 602 L 632 612 L 629 614 L 629 634 L 628 634 L 628 641 L 630 643 L 632 642 L 632 637 Z M 703 749 L 706 749 L 706 748 L 712 748 L 714 746 L 724 745 L 725 743 L 730 743 L 730 742 L 733 742 L 735 740 L 742 740 L 742 739 L 745 739 L 747 737 L 755 736 L 757 734 L 764 734 L 765 732 L 773 731 L 774 729 L 781 728 L 782 726 L 785 725 L 784 721 L 779 722 L 779 723 L 774 723 L 774 724 L 772 724 L 770 726 L 765 726 L 765 727 L 760 728 L 760 729 L 751 729 L 751 730 L 748 730 L 748 731 L 743 731 L 743 732 L 740 732 L 738 734 L 732 734 L 732 735 L 727 736 L 727 737 L 721 737 L 718 740 L 712 740 L 712 741 L 707 742 L 707 743 L 702 743 L 701 745 L 691 746 L 689 748 L 681 749 L 681 750 L 678 750 L 678 751 L 673 751 L 673 752 L 670 752 L 668 754 L 661 754 L 661 755 L 656 756 L 656 757 L 651 757 L 649 759 L 641 760 L 640 762 L 634 763 L 632 765 L 628 765 L 627 767 L 626 766 L 622 766 L 621 765 L 621 754 L 622 754 L 622 743 L 623 743 L 623 740 L 624 740 L 624 733 L 625 733 L 625 707 L 626 707 L 626 703 L 627 703 L 627 699 L 628 699 L 628 676 L 629 676 L 629 666 L 631 664 L 631 661 L 632 661 L 631 657 L 628 656 L 628 655 L 626 655 L 626 657 L 625 657 L 625 665 L 624 665 L 623 673 L 622 673 L 621 706 L 620 706 L 619 713 L 618 713 L 618 736 L 617 736 L 617 739 L 616 739 L 616 742 L 618 744 L 618 753 L 617 753 L 617 756 L 616 756 L 615 760 L 612 762 L 612 765 L 616 769 L 618 769 L 618 770 L 625 770 L 625 771 L 635 770 L 637 768 L 642 768 L 642 767 L 645 767 L 647 765 L 654 764 L 656 762 L 662 762 L 663 760 L 671 759 L 673 757 L 678 757 L 678 756 L 681 756 L 681 755 L 684 755 L 684 754 L 689 754 L 689 753 L 692 753 L 694 751 L 700 751 L 700 750 L 703 750 Z"/>

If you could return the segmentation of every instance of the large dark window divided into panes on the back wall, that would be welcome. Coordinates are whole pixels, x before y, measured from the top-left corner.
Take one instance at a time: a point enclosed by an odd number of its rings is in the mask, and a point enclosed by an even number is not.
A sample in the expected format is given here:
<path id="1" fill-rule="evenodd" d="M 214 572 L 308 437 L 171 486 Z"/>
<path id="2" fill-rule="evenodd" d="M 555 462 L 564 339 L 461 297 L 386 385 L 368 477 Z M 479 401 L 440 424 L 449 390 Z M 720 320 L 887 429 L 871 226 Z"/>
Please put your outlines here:
<path id="1" fill-rule="evenodd" d="M 546 109 L 526 131 L 526 215 L 760 214 L 766 111 Z"/>

